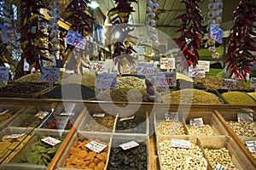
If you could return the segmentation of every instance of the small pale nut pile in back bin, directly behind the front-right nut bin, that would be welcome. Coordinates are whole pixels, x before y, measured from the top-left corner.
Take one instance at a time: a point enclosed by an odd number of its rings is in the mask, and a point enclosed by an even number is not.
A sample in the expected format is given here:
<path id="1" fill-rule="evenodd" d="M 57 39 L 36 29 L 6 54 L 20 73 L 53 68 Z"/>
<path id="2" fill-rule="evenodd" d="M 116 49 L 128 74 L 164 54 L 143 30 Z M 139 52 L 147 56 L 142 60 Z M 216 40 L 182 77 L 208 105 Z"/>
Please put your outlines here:
<path id="1" fill-rule="evenodd" d="M 202 127 L 194 127 L 188 125 L 189 127 L 189 134 L 203 134 L 203 135 L 217 135 L 212 129 L 210 125 L 204 124 Z"/>

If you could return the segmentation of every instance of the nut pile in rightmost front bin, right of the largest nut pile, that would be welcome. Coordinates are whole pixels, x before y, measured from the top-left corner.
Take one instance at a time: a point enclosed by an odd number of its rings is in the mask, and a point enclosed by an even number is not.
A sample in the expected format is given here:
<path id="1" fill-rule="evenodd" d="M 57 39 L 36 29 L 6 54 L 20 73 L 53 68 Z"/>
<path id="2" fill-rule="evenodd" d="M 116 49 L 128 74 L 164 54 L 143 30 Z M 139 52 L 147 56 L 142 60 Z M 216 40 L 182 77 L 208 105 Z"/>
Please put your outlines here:
<path id="1" fill-rule="evenodd" d="M 217 166 L 218 163 L 220 163 L 224 167 L 229 167 L 230 169 L 233 169 L 233 170 L 237 169 L 231 160 L 229 150 L 227 150 L 226 148 L 220 148 L 220 149 L 205 148 L 204 151 L 213 169 Z"/>

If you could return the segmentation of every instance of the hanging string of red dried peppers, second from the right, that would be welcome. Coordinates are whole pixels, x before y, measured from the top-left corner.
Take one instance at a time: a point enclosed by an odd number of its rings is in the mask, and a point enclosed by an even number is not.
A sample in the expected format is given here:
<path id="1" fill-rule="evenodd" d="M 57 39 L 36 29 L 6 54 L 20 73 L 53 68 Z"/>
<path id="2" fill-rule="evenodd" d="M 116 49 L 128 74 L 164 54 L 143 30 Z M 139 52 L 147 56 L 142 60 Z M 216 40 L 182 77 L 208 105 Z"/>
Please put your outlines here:
<path id="1" fill-rule="evenodd" d="M 183 70 L 186 70 L 189 69 L 189 65 L 198 64 L 198 50 L 204 33 L 202 31 L 203 17 L 198 6 L 198 3 L 202 3 L 202 1 L 183 0 L 182 3 L 186 6 L 186 13 L 177 16 L 175 20 L 182 21 L 181 28 L 177 32 L 183 32 L 184 35 L 178 37 L 176 43 L 180 47 L 177 56 L 184 56 L 181 65 Z"/>

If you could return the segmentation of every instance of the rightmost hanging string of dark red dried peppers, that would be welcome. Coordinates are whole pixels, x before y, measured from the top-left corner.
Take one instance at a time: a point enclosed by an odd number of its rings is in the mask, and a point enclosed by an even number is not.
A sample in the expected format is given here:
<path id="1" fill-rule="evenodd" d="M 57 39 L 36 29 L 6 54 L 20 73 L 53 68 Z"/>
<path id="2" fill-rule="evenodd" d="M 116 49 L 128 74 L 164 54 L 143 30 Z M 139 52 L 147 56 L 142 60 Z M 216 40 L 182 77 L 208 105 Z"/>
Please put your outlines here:
<path id="1" fill-rule="evenodd" d="M 251 0 L 241 0 L 239 6 L 233 12 L 235 25 L 230 29 L 230 42 L 227 49 L 226 60 L 228 63 L 227 71 L 230 71 L 235 78 L 240 77 L 246 81 L 247 73 L 253 73 L 251 66 L 255 60 L 256 51 L 253 43 L 253 36 L 256 36 L 256 31 L 253 31 L 253 26 L 256 22 L 256 6 Z"/>

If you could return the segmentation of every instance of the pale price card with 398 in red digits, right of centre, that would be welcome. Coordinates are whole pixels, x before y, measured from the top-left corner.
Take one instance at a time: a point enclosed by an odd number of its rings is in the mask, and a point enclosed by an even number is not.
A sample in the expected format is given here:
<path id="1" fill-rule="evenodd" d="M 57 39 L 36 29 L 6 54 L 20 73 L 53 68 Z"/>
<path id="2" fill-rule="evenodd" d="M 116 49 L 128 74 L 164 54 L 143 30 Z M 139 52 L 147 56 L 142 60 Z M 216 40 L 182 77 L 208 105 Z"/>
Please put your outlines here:
<path id="1" fill-rule="evenodd" d="M 156 87 L 176 87 L 176 72 L 158 72 L 155 75 Z"/>

